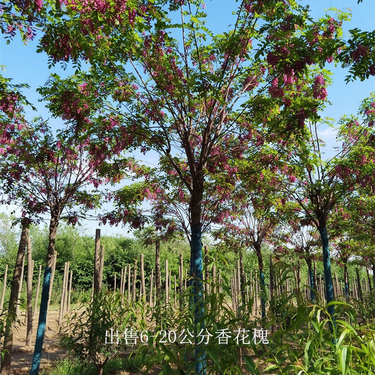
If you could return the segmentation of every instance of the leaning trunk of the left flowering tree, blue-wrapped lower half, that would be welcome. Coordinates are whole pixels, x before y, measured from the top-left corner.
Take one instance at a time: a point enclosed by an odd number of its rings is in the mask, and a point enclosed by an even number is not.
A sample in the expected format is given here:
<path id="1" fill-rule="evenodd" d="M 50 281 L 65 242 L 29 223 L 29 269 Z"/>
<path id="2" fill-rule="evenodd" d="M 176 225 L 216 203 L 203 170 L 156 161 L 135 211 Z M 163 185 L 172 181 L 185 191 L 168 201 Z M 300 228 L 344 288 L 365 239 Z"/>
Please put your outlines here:
<path id="1" fill-rule="evenodd" d="M 50 286 L 50 281 L 51 281 L 53 257 L 55 253 L 54 246 L 55 246 L 55 241 L 56 241 L 58 218 L 59 218 L 58 215 L 52 215 L 50 219 L 50 223 L 49 223 L 47 260 L 46 260 L 45 269 L 44 269 L 43 287 L 41 289 L 39 320 L 38 320 L 38 327 L 36 330 L 36 340 L 35 340 L 34 353 L 32 356 L 30 375 L 37 375 L 39 373 L 39 365 L 40 365 L 41 352 L 42 352 L 43 340 L 44 340 L 45 322 L 47 318 L 49 286 Z"/>

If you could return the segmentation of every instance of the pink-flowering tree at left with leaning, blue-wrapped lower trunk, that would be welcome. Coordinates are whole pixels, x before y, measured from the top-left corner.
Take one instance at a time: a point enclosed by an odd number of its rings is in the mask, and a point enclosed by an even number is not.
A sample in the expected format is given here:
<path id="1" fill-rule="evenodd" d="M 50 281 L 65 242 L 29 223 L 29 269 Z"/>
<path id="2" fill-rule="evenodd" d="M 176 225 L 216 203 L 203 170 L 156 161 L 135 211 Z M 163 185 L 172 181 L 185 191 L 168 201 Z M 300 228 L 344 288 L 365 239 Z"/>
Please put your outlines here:
<path id="1" fill-rule="evenodd" d="M 49 297 L 51 269 L 58 222 L 77 222 L 99 202 L 96 188 L 103 183 L 97 173 L 101 162 L 89 159 L 89 139 L 80 139 L 69 129 L 53 135 L 40 118 L 29 123 L 23 115 L 3 117 L 1 127 L 1 193 L 3 202 L 16 203 L 22 217 L 38 221 L 49 213 L 47 260 L 44 271 L 39 322 L 32 371 L 38 372 Z M 113 181 L 113 179 L 111 180 Z M 88 185 L 94 186 L 92 191 Z M 2 362 L 7 373 L 9 361 Z M 6 364 L 6 367 L 5 367 Z"/>

